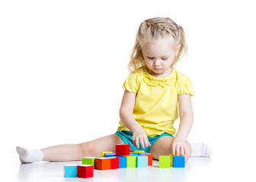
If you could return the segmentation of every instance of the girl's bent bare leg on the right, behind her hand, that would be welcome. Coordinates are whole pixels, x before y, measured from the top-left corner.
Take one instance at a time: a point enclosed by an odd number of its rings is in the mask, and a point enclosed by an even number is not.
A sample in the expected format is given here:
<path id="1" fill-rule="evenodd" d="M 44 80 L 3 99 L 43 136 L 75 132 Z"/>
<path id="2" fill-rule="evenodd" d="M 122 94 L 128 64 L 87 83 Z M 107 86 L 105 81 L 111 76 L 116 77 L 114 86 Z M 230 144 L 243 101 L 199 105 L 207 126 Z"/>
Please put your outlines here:
<path id="1" fill-rule="evenodd" d="M 153 155 L 153 158 L 158 160 L 159 155 L 169 155 L 172 153 L 172 142 L 174 137 L 164 136 L 159 138 L 151 147 L 150 153 Z M 190 158 L 192 149 L 190 143 L 186 141 L 186 153 L 185 153 L 185 162 Z"/>

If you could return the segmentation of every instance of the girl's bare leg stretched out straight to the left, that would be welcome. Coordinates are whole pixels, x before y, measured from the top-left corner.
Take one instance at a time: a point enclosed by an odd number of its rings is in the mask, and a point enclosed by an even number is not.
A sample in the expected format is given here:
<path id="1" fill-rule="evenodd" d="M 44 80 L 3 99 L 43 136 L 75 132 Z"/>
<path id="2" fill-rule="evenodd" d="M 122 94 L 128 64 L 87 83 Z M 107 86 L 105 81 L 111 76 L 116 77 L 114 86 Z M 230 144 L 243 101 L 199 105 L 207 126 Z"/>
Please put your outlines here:
<path id="1" fill-rule="evenodd" d="M 106 137 L 101 137 L 90 142 L 78 144 L 63 144 L 58 146 L 50 146 L 40 149 L 43 152 L 43 161 L 60 162 L 60 161 L 75 161 L 82 160 L 82 157 L 101 156 L 101 152 L 115 152 L 116 144 L 123 144 L 123 140 L 116 135 L 112 134 Z M 30 150 L 32 151 L 32 150 Z M 18 152 L 21 162 L 36 162 L 30 157 L 23 156 L 22 152 Z"/>

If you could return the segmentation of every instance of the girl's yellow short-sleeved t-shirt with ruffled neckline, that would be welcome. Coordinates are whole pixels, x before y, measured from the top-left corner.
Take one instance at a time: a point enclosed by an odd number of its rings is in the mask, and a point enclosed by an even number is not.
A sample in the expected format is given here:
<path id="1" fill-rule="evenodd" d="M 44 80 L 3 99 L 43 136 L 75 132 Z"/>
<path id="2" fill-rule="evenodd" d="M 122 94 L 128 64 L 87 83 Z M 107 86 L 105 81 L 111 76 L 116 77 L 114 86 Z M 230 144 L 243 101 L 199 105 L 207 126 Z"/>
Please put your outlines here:
<path id="1" fill-rule="evenodd" d="M 146 131 L 148 137 L 162 133 L 174 135 L 174 121 L 178 119 L 178 95 L 194 96 L 189 78 L 172 69 L 168 77 L 153 77 L 143 67 L 131 73 L 123 83 L 123 89 L 136 93 L 133 117 Z M 122 123 L 117 130 L 128 130 Z"/>

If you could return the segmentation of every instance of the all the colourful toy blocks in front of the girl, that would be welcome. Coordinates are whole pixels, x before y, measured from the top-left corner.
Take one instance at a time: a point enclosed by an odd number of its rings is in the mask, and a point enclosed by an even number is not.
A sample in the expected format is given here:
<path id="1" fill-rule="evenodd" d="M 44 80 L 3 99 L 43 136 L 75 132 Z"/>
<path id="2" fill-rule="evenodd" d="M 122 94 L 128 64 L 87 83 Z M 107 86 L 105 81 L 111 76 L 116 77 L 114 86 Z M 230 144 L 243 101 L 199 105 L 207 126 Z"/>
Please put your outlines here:
<path id="1" fill-rule="evenodd" d="M 130 152 L 129 144 L 116 145 L 116 153 L 101 152 L 101 158 L 84 157 L 82 165 L 64 165 L 64 177 L 93 177 L 94 169 L 147 168 L 152 165 L 152 155 L 144 151 Z M 184 168 L 183 155 L 160 155 L 159 168 Z"/>

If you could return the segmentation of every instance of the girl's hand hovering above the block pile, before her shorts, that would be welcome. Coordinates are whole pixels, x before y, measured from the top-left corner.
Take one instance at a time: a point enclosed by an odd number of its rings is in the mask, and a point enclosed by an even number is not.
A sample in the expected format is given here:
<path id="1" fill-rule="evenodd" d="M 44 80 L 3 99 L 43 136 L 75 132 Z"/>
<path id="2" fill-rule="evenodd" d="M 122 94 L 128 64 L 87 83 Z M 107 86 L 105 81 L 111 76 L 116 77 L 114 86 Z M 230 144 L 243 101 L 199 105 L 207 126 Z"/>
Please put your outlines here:
<path id="1" fill-rule="evenodd" d="M 151 146 L 145 130 L 143 130 L 140 125 L 133 128 L 133 144 L 137 149 L 139 149 L 139 143 L 142 146 L 142 149 L 147 146 Z"/>

